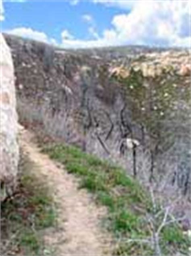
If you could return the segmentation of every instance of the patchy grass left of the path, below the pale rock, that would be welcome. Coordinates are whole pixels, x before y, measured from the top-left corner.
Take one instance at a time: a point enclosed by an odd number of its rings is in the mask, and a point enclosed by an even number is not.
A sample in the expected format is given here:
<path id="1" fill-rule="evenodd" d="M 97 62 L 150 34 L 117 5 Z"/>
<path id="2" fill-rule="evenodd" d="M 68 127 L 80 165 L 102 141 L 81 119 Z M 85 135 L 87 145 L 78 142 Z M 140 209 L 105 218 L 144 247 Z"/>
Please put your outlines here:
<path id="1" fill-rule="evenodd" d="M 34 168 L 29 159 L 22 159 L 16 194 L 1 205 L 4 255 L 43 255 L 42 231 L 56 224 L 54 202 L 46 185 L 32 174 Z"/>

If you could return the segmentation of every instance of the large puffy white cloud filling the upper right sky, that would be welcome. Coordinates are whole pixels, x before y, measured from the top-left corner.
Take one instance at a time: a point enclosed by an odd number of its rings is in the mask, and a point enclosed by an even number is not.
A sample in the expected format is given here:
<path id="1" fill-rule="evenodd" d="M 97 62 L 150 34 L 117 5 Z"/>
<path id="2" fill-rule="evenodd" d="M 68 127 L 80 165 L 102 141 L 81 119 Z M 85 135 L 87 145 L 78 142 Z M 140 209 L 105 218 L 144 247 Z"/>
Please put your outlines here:
<path id="1" fill-rule="evenodd" d="M 113 28 L 104 31 L 103 36 L 118 44 L 185 46 L 190 38 L 189 2 L 135 1 L 130 13 L 113 17 L 112 25 Z"/>

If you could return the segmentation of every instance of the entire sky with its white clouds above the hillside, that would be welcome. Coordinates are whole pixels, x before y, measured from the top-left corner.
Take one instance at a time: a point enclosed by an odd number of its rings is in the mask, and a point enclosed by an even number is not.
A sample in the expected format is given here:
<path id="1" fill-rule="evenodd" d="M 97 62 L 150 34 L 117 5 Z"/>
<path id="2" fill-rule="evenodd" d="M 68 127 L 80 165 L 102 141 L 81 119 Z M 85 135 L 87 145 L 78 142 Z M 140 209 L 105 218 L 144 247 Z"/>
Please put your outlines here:
<path id="1" fill-rule="evenodd" d="M 5 0 L 3 7 L 2 31 L 66 48 L 190 43 L 184 0 Z"/>

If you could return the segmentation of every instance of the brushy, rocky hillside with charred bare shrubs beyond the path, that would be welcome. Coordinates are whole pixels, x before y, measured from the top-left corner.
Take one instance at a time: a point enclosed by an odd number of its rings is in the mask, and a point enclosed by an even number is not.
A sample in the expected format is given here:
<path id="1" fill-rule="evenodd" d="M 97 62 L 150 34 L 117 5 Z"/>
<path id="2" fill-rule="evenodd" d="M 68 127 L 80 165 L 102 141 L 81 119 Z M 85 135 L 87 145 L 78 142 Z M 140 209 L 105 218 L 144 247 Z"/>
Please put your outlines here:
<path id="1" fill-rule="evenodd" d="M 20 120 L 168 191 L 190 188 L 190 58 L 183 50 L 63 51 L 6 35 Z M 116 50 L 117 51 L 117 50 Z M 163 188 L 161 188 L 163 190 Z M 170 192 L 169 192 L 170 193 Z"/>

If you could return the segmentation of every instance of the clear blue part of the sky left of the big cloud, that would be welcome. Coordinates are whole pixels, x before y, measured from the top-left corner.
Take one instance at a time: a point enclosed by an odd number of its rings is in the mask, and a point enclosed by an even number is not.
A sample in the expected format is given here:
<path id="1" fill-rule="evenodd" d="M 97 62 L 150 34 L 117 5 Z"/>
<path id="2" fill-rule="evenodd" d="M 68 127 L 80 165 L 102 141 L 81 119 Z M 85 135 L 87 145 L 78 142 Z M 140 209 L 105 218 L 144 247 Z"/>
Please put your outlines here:
<path id="1" fill-rule="evenodd" d="M 45 32 L 49 37 L 54 37 L 61 42 L 63 30 L 71 31 L 73 36 L 80 39 L 91 39 L 88 33 L 89 23 L 83 15 L 91 15 L 96 21 L 95 25 L 99 34 L 105 28 L 111 28 L 114 15 L 120 14 L 119 8 L 95 5 L 91 2 L 82 2 L 72 5 L 69 1 L 27 1 L 5 2 L 4 11 L 6 19 L 3 30 L 12 30 L 17 27 L 27 27 Z"/>

